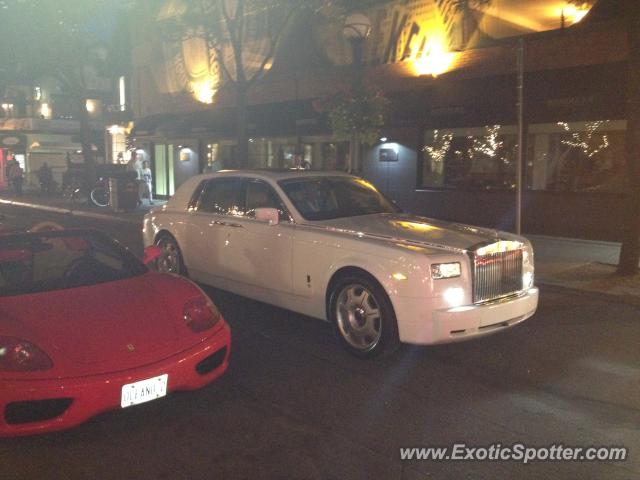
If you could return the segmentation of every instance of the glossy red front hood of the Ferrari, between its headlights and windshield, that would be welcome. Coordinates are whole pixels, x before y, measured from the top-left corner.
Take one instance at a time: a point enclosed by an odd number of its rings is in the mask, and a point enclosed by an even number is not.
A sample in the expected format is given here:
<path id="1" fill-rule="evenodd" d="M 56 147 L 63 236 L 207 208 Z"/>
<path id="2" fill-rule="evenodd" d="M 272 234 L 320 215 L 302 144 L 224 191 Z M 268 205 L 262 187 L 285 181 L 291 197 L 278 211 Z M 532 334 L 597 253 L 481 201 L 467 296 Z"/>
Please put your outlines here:
<path id="1" fill-rule="evenodd" d="M 199 294 L 185 280 L 149 273 L 1 298 L 0 327 L 45 350 L 56 376 L 112 372 L 158 361 L 197 343 L 181 318 L 185 302 Z"/>

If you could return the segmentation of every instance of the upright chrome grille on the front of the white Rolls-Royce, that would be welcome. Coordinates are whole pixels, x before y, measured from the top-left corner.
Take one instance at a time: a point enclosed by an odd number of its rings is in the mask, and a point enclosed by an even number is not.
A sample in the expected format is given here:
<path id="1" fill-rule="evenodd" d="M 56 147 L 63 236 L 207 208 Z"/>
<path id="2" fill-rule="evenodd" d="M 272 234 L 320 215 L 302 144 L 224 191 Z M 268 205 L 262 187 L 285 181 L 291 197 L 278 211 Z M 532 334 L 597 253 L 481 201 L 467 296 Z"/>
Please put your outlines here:
<path id="1" fill-rule="evenodd" d="M 483 303 L 522 290 L 522 249 L 473 254 L 473 302 Z"/>

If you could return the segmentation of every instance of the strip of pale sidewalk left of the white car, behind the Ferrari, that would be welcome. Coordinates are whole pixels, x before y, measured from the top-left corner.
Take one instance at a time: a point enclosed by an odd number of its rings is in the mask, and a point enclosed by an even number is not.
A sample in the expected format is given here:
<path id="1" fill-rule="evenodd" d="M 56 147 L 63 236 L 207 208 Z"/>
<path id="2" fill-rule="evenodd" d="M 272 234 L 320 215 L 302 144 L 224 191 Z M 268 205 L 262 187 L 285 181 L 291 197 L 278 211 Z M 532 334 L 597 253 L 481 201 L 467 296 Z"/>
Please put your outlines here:
<path id="1" fill-rule="evenodd" d="M 0 205 L 13 205 L 16 207 L 34 208 L 37 210 L 52 213 L 75 215 L 78 217 L 94 218 L 96 220 L 108 220 L 112 222 L 122 222 L 135 225 L 142 224 L 142 217 L 153 208 L 164 205 L 166 201 L 155 201 L 149 205 L 148 201 L 129 212 L 114 212 L 109 207 L 91 207 L 89 205 L 74 205 L 65 202 L 57 196 L 41 195 L 38 193 L 26 192 L 24 195 L 16 196 L 13 193 L 0 192 Z"/>

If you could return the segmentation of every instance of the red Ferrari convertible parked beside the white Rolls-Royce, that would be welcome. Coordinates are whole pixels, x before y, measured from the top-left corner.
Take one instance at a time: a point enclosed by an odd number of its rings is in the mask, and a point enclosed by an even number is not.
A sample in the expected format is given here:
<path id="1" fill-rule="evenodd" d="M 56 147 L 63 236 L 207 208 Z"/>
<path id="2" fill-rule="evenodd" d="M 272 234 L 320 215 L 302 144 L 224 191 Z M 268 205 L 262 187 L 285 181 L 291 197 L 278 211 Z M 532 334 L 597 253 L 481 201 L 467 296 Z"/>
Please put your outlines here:
<path id="1" fill-rule="evenodd" d="M 0 235 L 0 436 L 200 388 L 224 373 L 230 345 L 202 290 L 106 235 Z"/>

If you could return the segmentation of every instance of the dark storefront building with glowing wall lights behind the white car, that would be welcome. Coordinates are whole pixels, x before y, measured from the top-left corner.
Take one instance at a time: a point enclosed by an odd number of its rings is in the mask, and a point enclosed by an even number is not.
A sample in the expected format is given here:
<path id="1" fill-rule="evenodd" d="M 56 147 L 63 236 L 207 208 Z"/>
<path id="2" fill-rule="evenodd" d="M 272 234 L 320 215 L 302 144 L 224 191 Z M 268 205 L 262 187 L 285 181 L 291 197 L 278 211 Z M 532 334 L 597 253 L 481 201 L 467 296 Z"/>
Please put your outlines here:
<path id="1" fill-rule="evenodd" d="M 361 173 L 407 210 L 510 230 L 521 158 L 525 233 L 619 239 L 626 38 L 607 2 L 582 22 L 588 8 L 566 2 L 537 2 L 535 15 L 518 0 L 467 11 L 454 3 L 396 1 L 367 12 L 361 74 L 391 107 Z M 206 42 L 167 42 L 153 29 L 151 19 L 134 39 L 134 136 L 156 194 L 171 195 L 191 175 L 238 165 L 234 95 Z M 296 156 L 311 169 L 349 164 L 348 142 L 314 108 L 353 74 L 341 30 L 317 17 L 290 29 L 249 92 L 251 168 L 292 167 Z"/>

